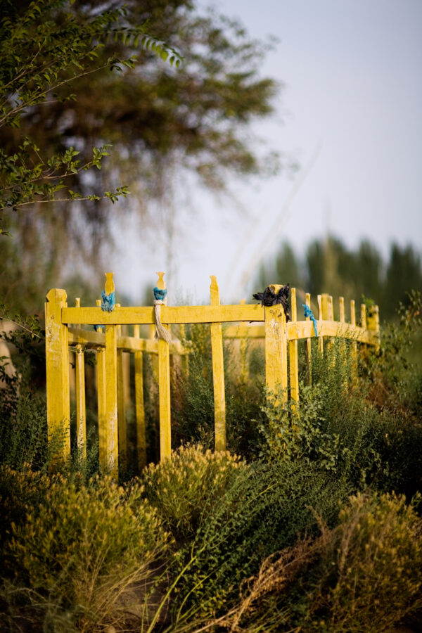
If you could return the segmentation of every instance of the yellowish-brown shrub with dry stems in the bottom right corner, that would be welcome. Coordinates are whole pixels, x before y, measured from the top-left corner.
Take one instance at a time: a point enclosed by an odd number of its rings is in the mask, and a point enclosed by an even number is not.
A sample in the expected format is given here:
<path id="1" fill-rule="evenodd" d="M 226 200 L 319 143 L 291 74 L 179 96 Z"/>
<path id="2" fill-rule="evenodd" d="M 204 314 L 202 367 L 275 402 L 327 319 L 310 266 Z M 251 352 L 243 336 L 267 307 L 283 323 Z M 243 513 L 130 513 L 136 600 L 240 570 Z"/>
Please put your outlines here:
<path id="1" fill-rule="evenodd" d="M 270 556 L 215 622 L 248 632 L 378 633 L 422 604 L 421 520 L 404 497 L 351 497 L 340 524 Z M 238 628 L 239 627 L 239 628 Z"/>

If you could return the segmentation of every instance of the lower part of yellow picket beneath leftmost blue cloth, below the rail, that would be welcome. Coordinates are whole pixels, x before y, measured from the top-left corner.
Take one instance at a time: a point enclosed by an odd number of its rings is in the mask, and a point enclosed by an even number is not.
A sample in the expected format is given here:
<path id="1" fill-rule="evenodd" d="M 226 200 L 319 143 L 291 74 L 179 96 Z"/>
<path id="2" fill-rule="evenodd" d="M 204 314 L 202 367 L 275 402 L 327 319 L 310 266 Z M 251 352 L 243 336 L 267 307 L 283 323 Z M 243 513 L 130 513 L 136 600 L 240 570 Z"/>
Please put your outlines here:
<path id="1" fill-rule="evenodd" d="M 118 430 L 117 430 L 117 331 L 106 326 L 106 428 L 107 463 L 111 474 L 117 478 Z"/>

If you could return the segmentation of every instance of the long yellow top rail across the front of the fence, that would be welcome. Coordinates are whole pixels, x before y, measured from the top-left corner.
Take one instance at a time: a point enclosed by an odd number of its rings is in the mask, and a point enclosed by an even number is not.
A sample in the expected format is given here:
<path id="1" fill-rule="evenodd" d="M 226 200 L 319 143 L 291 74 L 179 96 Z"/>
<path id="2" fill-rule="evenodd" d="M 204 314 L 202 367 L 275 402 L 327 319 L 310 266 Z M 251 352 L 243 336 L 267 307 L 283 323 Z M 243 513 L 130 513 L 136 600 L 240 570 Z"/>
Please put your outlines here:
<path id="1" fill-rule="evenodd" d="M 261 305 L 192 305 L 161 307 L 163 324 L 224 323 L 231 321 L 264 321 Z M 113 312 L 103 312 L 98 307 L 65 307 L 62 323 L 110 325 L 154 324 L 153 307 L 120 307 Z"/>

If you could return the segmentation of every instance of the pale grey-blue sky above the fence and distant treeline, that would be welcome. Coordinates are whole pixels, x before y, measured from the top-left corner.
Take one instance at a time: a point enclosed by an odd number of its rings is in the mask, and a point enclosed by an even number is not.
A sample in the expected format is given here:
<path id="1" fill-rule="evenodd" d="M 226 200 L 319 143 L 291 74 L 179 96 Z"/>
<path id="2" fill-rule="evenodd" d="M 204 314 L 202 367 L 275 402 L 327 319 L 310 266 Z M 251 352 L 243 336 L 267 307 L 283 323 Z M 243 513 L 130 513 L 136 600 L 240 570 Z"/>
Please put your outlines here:
<path id="1" fill-rule="evenodd" d="M 254 131 L 267 148 L 297 158 L 300 171 L 294 179 L 233 179 L 236 203 L 189 192 L 166 276 L 169 304 L 207 302 L 211 274 L 222 301 L 235 302 L 250 294 L 262 254 L 286 239 L 300 255 L 327 230 L 350 247 L 365 237 L 384 254 L 393 240 L 422 252 L 422 0 L 216 6 L 251 37 L 279 39 L 262 75 L 284 89 L 276 115 Z M 167 254 L 128 227 L 121 239 L 110 269 L 116 287 L 137 300 L 166 269 Z"/>

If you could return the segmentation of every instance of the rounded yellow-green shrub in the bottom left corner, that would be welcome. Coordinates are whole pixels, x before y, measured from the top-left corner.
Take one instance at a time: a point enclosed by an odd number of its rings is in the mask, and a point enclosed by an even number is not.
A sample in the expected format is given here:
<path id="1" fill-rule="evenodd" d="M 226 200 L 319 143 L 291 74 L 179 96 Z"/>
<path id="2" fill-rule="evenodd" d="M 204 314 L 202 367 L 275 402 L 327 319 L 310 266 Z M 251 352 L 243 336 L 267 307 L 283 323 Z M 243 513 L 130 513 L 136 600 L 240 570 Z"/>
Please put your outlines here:
<path id="1" fill-rule="evenodd" d="M 11 525 L 5 546 L 19 597 L 9 600 L 9 622 L 26 599 L 34 628 L 59 632 L 66 621 L 81 631 L 122 629 L 129 618 L 124 597 L 136 586 L 139 624 L 167 542 L 142 487 L 128 491 L 107 477 L 78 485 L 62 475 L 44 484 L 44 500 L 28 507 L 25 522 Z M 6 584 L 3 599 L 10 595 Z"/>

